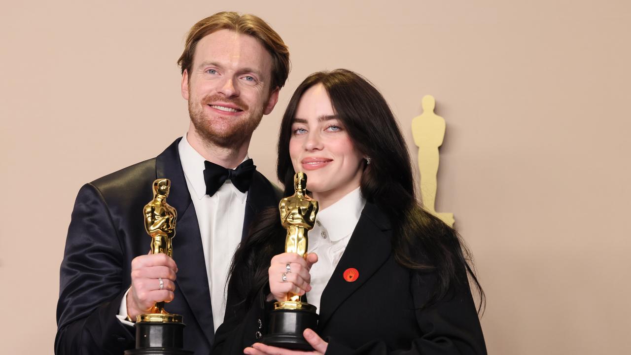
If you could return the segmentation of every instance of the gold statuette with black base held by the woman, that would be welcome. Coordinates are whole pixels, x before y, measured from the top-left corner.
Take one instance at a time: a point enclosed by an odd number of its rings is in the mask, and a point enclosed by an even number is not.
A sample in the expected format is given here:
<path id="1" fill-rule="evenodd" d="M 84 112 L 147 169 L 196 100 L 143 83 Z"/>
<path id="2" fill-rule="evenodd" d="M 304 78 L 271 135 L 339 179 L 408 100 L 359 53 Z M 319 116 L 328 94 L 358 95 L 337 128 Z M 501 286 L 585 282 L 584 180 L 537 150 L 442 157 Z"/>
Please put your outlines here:
<path id="1" fill-rule="evenodd" d="M 283 198 L 278 204 L 281 224 L 287 230 L 285 252 L 307 258 L 307 232 L 314 227 L 318 203 L 307 196 L 307 175 L 304 172 L 295 174 L 293 187 L 295 193 Z M 302 332 L 317 326 L 315 306 L 302 302 L 297 294 L 290 293 L 287 296 L 288 300 L 274 303 L 274 310 L 269 315 L 268 334 L 261 341 L 288 349 L 312 350 Z"/>

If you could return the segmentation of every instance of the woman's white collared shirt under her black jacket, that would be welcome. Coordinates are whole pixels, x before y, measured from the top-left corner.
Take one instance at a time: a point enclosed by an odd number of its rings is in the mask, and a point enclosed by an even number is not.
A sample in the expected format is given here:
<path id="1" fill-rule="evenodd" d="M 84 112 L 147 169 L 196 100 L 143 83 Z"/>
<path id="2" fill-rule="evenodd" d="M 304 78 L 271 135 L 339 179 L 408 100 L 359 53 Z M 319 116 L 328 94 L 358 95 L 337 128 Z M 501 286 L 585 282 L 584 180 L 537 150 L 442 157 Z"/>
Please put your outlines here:
<path id="1" fill-rule="evenodd" d="M 318 308 L 318 313 L 324 287 L 329 283 L 339 259 L 346 250 L 365 205 L 366 200 L 360 188 L 357 188 L 318 212 L 315 217 L 315 226 L 308 234 L 307 251 L 316 253 L 318 261 L 310 270 L 311 291 L 307 292 L 307 301 Z"/>

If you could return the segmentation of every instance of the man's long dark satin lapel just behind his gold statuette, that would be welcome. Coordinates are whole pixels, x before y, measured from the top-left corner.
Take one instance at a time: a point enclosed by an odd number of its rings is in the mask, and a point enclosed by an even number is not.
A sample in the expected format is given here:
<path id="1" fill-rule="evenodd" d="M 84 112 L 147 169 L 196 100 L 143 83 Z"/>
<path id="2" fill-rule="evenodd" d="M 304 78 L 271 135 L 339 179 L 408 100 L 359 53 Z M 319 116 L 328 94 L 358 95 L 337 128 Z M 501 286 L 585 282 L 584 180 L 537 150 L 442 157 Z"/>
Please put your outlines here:
<path id="1" fill-rule="evenodd" d="M 175 284 L 184 294 L 209 344 L 212 344 L 215 328 L 204 249 L 201 244 L 197 214 L 180 163 L 177 150 L 179 141 L 179 139 L 174 141 L 162 154 L 158 155 L 156 176 L 171 180 L 171 191 L 167 202 L 177 210 L 177 224 L 173 239 L 173 258 L 178 268 Z M 191 322 L 191 320 L 184 320 L 184 322 Z"/>

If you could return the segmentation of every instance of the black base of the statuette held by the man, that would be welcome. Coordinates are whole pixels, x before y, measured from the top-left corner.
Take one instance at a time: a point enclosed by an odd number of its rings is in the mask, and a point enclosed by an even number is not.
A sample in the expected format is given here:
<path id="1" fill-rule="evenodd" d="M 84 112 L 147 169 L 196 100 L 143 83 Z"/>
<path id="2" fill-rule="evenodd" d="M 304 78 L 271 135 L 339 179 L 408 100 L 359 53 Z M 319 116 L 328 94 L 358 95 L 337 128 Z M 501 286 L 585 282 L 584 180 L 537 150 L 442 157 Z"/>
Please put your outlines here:
<path id="1" fill-rule="evenodd" d="M 136 327 L 136 349 L 125 351 L 125 355 L 190 355 L 184 347 L 184 323 L 138 322 Z"/>

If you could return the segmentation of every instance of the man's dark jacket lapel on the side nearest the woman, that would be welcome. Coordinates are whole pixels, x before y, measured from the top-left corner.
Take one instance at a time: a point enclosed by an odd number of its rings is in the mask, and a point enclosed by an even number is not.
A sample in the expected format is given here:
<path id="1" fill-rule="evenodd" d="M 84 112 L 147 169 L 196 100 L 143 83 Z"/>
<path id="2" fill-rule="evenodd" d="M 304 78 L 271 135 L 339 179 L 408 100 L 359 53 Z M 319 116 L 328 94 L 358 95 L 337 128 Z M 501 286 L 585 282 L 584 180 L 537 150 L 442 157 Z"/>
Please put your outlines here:
<path id="1" fill-rule="evenodd" d="M 257 213 L 261 212 L 264 208 L 278 206 L 280 197 L 277 198 L 277 192 L 280 196 L 280 191 L 276 191 L 268 179 L 266 179 L 260 172 L 254 172 L 254 176 L 252 176 L 252 184 L 247 191 L 241 241 L 244 241 L 247 238 L 249 226 Z"/>

